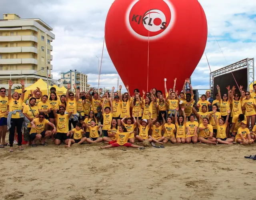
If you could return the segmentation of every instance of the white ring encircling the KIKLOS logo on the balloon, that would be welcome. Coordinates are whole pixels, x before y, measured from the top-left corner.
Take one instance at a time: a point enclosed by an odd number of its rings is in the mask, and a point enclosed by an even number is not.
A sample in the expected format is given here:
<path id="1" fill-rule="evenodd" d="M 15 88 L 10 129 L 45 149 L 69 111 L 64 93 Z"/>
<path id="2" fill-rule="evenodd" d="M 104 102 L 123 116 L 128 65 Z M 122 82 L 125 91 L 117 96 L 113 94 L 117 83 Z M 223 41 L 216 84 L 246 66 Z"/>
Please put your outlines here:
<path id="1" fill-rule="evenodd" d="M 132 10 L 132 7 L 138 2 L 139 0 L 134 0 L 131 4 L 130 4 L 130 6 L 128 7 L 128 9 L 127 9 L 127 11 L 126 11 L 126 16 L 125 16 L 125 22 L 126 22 L 126 27 L 128 28 L 128 30 L 130 31 L 130 33 L 133 35 L 133 36 L 135 36 L 136 38 L 139 38 L 139 39 L 142 39 L 142 40 L 156 40 L 156 39 L 159 39 L 159 38 L 162 38 L 162 36 L 164 36 L 164 35 L 166 35 L 171 29 L 172 29 L 172 27 L 174 26 L 174 23 L 175 23 L 175 10 L 174 10 L 174 6 L 172 5 L 172 3 L 169 1 L 169 0 L 163 0 L 167 5 L 168 5 L 168 7 L 170 8 L 170 12 L 171 12 L 171 20 L 170 20 L 170 23 L 169 23 L 169 25 L 166 27 L 166 29 L 162 32 L 162 33 L 160 33 L 160 34 L 158 34 L 158 35 L 156 35 L 156 36 L 150 36 L 150 37 L 148 37 L 148 36 L 142 36 L 142 35 L 140 35 L 140 34 L 138 34 L 138 33 L 136 33 L 134 30 L 133 30 L 133 28 L 132 28 L 132 26 L 130 25 L 130 21 L 129 21 L 129 16 L 130 16 L 130 12 L 131 12 L 131 10 Z M 158 10 L 158 11 L 160 11 L 160 10 Z M 162 11 L 161 11 L 162 12 Z M 148 13 L 148 12 L 147 12 Z M 163 13 L 163 12 L 162 12 Z M 151 15 L 150 15 L 150 17 L 152 17 Z M 165 18 L 165 16 L 164 16 L 164 18 Z M 162 21 L 163 22 L 163 21 Z M 145 27 L 145 25 L 144 25 L 144 27 Z M 146 28 L 146 27 L 145 27 Z M 147 30 L 148 30 L 148 28 L 146 28 Z M 152 31 L 152 29 L 150 29 L 150 31 Z M 153 31 L 152 31 L 153 32 Z"/>

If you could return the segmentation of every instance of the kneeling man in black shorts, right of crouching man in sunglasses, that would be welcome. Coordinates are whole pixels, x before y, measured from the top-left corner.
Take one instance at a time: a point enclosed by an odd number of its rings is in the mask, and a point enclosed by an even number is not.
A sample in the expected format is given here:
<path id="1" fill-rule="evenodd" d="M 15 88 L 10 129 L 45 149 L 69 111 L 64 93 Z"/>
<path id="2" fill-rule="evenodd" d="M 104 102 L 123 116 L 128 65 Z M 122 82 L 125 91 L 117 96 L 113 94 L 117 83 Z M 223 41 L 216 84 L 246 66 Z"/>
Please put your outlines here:
<path id="1" fill-rule="evenodd" d="M 69 118 L 72 116 L 72 112 L 65 114 L 64 106 L 60 106 L 59 112 L 60 114 L 57 114 L 56 110 L 53 111 L 54 117 L 56 119 L 56 124 L 57 124 L 55 145 L 60 145 L 62 141 L 64 141 L 65 144 L 68 144 L 68 139 L 69 139 L 69 137 L 67 136 L 68 121 L 69 121 Z"/>

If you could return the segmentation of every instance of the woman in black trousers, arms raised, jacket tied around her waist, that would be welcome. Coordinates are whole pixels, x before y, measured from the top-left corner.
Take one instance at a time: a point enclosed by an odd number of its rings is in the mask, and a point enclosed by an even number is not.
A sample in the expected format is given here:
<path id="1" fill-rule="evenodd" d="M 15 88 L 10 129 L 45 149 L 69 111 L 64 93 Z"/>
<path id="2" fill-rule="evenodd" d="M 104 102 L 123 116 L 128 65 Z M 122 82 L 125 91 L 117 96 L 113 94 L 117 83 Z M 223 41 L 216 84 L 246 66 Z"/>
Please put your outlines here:
<path id="1" fill-rule="evenodd" d="M 15 128 L 17 129 L 18 135 L 18 148 L 20 151 L 23 150 L 22 144 L 22 124 L 24 116 L 22 114 L 22 102 L 24 101 L 24 80 L 20 81 L 22 86 L 21 96 L 18 92 L 11 94 L 13 82 L 9 81 L 9 90 L 8 90 L 8 117 L 7 117 L 7 126 L 10 131 L 9 133 L 9 142 L 10 142 L 10 152 L 13 152 L 13 141 Z"/>

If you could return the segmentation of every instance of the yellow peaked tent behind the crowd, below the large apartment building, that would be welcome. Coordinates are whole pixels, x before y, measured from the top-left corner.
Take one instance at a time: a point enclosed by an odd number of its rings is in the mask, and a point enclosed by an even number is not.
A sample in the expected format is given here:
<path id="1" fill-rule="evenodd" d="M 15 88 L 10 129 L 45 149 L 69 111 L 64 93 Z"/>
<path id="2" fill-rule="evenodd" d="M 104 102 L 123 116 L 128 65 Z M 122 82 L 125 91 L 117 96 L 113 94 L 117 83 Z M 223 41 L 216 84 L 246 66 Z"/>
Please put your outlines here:
<path id="1" fill-rule="evenodd" d="M 47 83 L 44 82 L 44 80 L 42 80 L 41 78 L 37 82 L 35 82 L 34 84 L 25 88 L 25 90 L 27 90 L 26 94 L 30 94 L 30 90 L 34 91 L 34 90 L 36 90 L 37 87 L 40 88 L 40 91 L 42 92 L 43 95 L 47 94 Z M 51 88 L 51 86 L 49 85 L 49 94 L 50 94 L 50 88 Z M 21 89 L 17 89 L 17 90 L 15 90 L 15 92 L 21 93 L 22 91 L 21 91 Z M 63 94 L 63 91 L 62 90 L 57 90 L 57 88 L 56 88 L 56 94 L 57 95 L 58 94 Z"/>

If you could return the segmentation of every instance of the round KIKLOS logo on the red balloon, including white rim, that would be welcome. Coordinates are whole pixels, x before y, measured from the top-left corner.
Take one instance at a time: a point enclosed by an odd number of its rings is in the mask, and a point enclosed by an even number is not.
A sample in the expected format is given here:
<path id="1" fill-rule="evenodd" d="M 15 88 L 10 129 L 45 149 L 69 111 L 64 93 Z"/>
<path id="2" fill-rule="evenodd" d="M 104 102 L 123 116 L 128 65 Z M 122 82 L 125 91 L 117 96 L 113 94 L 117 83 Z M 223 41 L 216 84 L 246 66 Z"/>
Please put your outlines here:
<path id="1" fill-rule="evenodd" d="M 127 10 L 126 25 L 140 39 L 156 39 L 172 28 L 174 18 L 174 8 L 168 0 L 135 0 Z"/>

